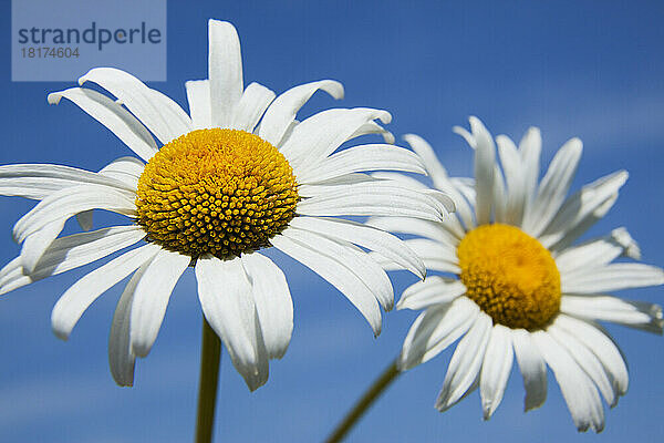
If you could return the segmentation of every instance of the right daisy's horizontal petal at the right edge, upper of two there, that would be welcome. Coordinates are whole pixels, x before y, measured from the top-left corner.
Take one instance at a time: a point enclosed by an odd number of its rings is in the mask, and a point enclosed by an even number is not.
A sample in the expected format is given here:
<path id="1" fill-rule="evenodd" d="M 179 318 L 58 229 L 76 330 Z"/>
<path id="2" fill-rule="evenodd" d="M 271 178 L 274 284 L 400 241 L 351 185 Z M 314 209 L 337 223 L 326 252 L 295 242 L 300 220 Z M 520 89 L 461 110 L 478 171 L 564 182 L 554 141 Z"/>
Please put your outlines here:
<path id="1" fill-rule="evenodd" d="M 599 293 L 657 285 L 664 285 L 662 268 L 633 262 L 585 268 L 561 278 L 564 293 Z"/>

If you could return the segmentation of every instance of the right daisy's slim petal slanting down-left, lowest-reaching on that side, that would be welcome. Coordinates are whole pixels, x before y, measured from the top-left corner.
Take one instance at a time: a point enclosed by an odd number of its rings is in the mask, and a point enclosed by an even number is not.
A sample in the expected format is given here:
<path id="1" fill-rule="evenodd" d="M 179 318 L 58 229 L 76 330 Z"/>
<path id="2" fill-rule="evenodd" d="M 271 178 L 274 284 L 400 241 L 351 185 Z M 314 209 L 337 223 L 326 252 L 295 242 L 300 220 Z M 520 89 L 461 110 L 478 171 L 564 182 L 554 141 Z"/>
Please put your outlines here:
<path id="1" fill-rule="evenodd" d="M 491 318 L 480 312 L 452 356 L 443 389 L 436 400 L 438 411 L 446 411 L 458 402 L 477 378 L 490 332 Z"/>

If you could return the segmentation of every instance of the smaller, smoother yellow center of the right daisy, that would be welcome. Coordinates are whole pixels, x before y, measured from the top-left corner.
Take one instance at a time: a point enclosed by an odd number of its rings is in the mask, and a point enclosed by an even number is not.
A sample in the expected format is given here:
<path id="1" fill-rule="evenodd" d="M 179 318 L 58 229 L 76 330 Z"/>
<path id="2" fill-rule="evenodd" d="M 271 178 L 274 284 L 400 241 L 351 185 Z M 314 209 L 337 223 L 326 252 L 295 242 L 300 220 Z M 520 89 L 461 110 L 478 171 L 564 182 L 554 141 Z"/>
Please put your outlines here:
<path id="1" fill-rule="evenodd" d="M 495 323 L 544 327 L 560 309 L 560 274 L 551 254 L 515 226 L 483 225 L 466 234 L 457 255 L 466 295 Z"/>

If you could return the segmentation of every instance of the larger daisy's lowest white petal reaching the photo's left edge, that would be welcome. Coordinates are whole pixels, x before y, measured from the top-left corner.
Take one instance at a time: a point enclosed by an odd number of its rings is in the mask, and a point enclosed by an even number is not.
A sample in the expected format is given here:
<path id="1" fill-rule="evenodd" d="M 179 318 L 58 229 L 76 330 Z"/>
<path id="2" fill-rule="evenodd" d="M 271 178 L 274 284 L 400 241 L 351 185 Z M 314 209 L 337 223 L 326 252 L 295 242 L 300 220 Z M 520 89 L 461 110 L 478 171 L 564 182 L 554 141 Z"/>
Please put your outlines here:
<path id="1" fill-rule="evenodd" d="M 0 293 L 87 265 L 132 246 L 144 237 L 145 233 L 138 226 L 116 226 L 58 238 L 45 250 L 31 275 L 23 274 L 21 257 L 2 268 Z"/>

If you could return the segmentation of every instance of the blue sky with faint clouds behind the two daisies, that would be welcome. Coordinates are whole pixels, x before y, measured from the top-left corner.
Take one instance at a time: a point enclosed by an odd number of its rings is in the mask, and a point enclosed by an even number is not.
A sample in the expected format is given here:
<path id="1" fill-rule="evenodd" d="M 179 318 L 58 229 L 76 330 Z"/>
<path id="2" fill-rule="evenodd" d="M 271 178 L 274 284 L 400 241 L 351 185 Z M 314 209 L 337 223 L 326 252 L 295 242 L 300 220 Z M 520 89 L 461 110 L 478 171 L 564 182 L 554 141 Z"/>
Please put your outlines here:
<path id="1" fill-rule="evenodd" d="M 500 3 L 499 6 L 497 3 Z M 2 2 L 0 164 L 59 163 L 98 169 L 128 151 L 75 106 L 49 106 L 66 83 L 10 81 L 10 13 Z M 627 226 L 647 262 L 664 265 L 664 7 L 657 2 L 197 2 L 168 1 L 168 81 L 153 83 L 185 105 L 184 81 L 207 72 L 207 19 L 234 22 L 245 79 L 277 92 L 331 78 L 341 103 L 314 97 L 302 115 L 328 106 L 372 106 L 393 113 L 390 130 L 427 138 L 454 175 L 471 172 L 471 153 L 450 131 L 478 115 L 494 134 L 519 138 L 541 128 L 543 159 L 579 136 L 584 154 L 578 188 L 625 168 L 621 197 L 591 235 Z M 83 73 L 81 73 L 83 74 Z M 13 223 L 33 203 L 0 199 L 0 261 L 19 248 Z M 97 217 L 100 224 L 111 217 Z M 268 384 L 250 393 L 224 356 L 217 441 L 322 440 L 361 391 L 396 356 L 414 312 L 370 327 L 325 281 L 289 258 L 295 328 Z M 189 441 L 195 421 L 200 308 L 194 276 L 178 284 L 151 356 L 137 364 L 135 388 L 115 385 L 106 344 L 120 286 L 84 315 L 69 342 L 50 329 L 58 297 L 90 267 L 38 282 L 0 300 L 0 440 L 49 442 Z M 415 281 L 394 274 L 395 293 Z M 660 301 L 662 288 L 621 296 Z M 445 414 L 433 408 L 450 352 L 404 375 L 349 441 L 658 441 L 664 432 L 662 339 L 609 327 L 627 358 L 630 392 L 606 414 L 599 436 L 578 434 L 558 385 L 540 410 L 522 413 L 523 389 L 512 371 L 502 404 L 481 421 L 478 394 Z"/>

